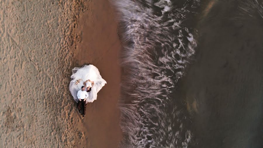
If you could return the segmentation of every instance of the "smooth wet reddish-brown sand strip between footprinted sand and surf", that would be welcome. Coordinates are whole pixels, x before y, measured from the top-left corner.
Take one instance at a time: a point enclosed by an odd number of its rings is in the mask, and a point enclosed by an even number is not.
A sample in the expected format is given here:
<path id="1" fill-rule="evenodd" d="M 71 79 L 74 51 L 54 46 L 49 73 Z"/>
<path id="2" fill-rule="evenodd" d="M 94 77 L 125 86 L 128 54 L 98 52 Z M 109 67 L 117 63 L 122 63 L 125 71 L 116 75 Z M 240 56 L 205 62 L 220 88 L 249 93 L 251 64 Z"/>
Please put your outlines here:
<path id="1" fill-rule="evenodd" d="M 89 147 L 118 147 L 122 138 L 120 111 L 120 51 L 117 21 L 107 0 L 85 3 L 89 11 L 78 19 L 76 34 L 82 41 L 75 50 L 76 66 L 93 64 L 107 84 L 98 92 L 97 100 L 87 104 L 83 130 Z"/>

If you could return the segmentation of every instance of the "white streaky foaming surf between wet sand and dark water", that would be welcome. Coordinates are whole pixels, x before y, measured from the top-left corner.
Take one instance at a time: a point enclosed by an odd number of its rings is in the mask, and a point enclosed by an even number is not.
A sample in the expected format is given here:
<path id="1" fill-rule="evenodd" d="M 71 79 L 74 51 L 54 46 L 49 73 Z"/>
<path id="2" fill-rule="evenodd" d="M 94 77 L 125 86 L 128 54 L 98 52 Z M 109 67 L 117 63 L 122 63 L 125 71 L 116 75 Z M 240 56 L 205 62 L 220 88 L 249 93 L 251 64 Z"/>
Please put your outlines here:
<path id="1" fill-rule="evenodd" d="M 117 0 L 123 44 L 120 147 L 187 147 L 192 132 L 181 99 L 172 92 L 195 53 L 184 24 L 199 1 Z"/>

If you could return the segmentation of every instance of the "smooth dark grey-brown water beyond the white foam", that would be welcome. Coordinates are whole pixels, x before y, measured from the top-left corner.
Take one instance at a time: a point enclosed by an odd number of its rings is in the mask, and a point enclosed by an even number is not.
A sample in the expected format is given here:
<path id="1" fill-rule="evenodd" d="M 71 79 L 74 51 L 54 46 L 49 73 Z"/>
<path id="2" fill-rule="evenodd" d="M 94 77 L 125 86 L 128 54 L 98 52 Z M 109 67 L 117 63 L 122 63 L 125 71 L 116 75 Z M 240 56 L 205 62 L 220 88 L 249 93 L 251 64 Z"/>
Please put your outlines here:
<path id="1" fill-rule="evenodd" d="M 218 1 L 198 20 L 195 60 L 180 85 L 196 102 L 197 147 L 263 146 L 262 10 L 262 1 Z"/>

